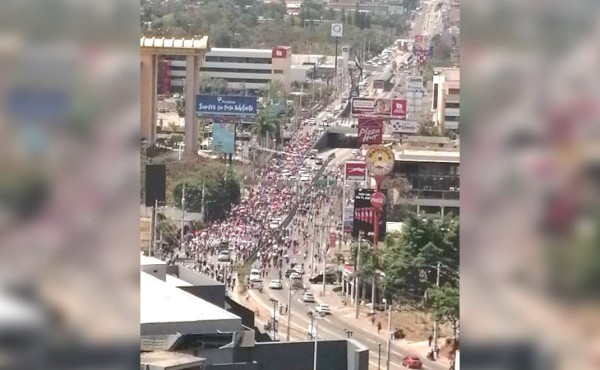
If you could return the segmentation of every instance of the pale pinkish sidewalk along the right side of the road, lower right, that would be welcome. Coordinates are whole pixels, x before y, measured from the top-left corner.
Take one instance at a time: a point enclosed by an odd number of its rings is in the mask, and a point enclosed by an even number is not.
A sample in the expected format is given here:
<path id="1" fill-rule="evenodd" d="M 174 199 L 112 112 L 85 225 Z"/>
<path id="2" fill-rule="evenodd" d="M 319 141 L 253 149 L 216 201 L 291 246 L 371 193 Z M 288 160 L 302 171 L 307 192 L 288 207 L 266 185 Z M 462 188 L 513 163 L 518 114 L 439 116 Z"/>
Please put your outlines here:
<path id="1" fill-rule="evenodd" d="M 356 315 L 356 306 L 352 305 L 350 298 L 346 298 L 342 295 L 341 292 L 336 293 L 333 289 L 337 287 L 336 285 L 327 285 L 326 286 L 326 295 L 322 296 L 322 285 L 321 284 L 312 284 L 310 286 L 313 294 L 315 295 L 315 301 L 317 303 L 326 303 L 331 308 L 331 311 L 335 316 L 343 318 L 350 325 L 354 325 L 355 327 L 359 327 L 362 330 L 370 331 L 371 334 L 377 335 L 381 338 L 382 342 L 387 341 L 386 331 L 387 331 L 387 319 L 380 320 L 382 324 L 381 332 L 377 332 L 377 325 L 372 324 L 370 320 L 370 308 L 366 306 L 361 306 L 359 308 L 358 318 L 355 318 Z M 344 304 L 344 300 L 347 300 L 346 304 Z M 438 339 L 438 346 L 442 348 L 445 343 L 446 338 Z M 429 343 L 427 340 L 424 341 L 407 341 L 405 339 L 396 339 L 392 341 L 392 347 L 397 347 L 402 352 L 414 353 L 421 357 L 421 359 L 426 359 L 427 352 L 429 351 Z M 440 353 L 441 354 L 441 353 Z M 449 367 L 451 360 L 447 357 L 440 357 L 436 360 L 436 363 Z"/>

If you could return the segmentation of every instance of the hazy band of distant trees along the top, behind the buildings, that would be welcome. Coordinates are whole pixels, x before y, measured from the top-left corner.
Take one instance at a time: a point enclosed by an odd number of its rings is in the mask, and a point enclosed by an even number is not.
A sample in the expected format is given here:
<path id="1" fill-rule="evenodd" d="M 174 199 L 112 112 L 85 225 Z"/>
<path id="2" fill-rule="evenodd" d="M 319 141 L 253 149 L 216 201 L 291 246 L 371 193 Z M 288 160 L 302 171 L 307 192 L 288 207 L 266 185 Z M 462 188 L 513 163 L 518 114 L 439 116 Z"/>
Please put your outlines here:
<path id="1" fill-rule="evenodd" d="M 411 0 L 411 4 L 412 4 Z M 334 40 L 330 21 L 345 23 L 342 42 L 354 47 L 370 44 L 372 55 L 408 31 L 406 14 L 356 10 L 335 12 L 323 4 L 304 1 L 298 16 L 288 15 L 285 2 L 207 0 L 142 2 L 142 29 L 148 36 L 191 37 L 209 35 L 215 47 L 270 48 L 292 45 L 294 53 L 331 55 Z M 408 6 L 416 6 L 415 4 Z"/>

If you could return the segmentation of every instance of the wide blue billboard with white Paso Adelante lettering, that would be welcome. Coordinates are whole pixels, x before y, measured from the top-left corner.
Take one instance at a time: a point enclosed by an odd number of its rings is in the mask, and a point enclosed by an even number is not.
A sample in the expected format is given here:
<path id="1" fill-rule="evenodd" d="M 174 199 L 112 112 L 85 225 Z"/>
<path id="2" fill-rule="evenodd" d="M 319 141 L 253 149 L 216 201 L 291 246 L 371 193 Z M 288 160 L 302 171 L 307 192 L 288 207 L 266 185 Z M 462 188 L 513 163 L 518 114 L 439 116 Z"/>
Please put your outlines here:
<path id="1" fill-rule="evenodd" d="M 256 96 L 196 95 L 196 113 L 203 116 L 254 116 Z"/>

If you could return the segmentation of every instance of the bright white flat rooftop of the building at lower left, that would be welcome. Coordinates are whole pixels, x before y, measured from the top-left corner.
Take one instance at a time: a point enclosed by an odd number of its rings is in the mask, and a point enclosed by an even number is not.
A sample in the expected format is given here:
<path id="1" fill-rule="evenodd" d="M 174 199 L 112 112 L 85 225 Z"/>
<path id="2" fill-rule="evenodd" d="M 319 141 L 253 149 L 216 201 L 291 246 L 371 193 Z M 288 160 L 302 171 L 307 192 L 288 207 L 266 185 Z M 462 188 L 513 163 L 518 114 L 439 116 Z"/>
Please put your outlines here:
<path id="1" fill-rule="evenodd" d="M 140 273 L 140 287 L 141 324 L 240 321 L 238 316 L 225 309 L 145 272 Z"/>

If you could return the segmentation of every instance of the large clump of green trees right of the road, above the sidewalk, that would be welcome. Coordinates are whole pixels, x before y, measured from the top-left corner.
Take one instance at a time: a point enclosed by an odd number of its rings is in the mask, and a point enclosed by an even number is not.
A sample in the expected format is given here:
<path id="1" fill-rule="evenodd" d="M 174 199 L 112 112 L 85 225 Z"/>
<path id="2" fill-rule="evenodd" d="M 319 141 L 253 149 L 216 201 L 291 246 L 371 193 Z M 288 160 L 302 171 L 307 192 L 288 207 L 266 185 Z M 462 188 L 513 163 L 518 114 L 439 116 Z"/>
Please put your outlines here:
<path id="1" fill-rule="evenodd" d="M 385 277 L 380 288 L 404 306 L 425 307 L 435 319 L 453 326 L 459 320 L 459 221 L 452 215 L 424 218 L 409 214 L 402 233 L 389 234 L 382 248 L 361 248 L 362 279 L 372 280 L 376 271 Z M 353 247 L 356 258 L 358 248 Z M 440 265 L 439 286 L 437 285 Z M 364 280 L 363 280 L 364 281 Z"/>

